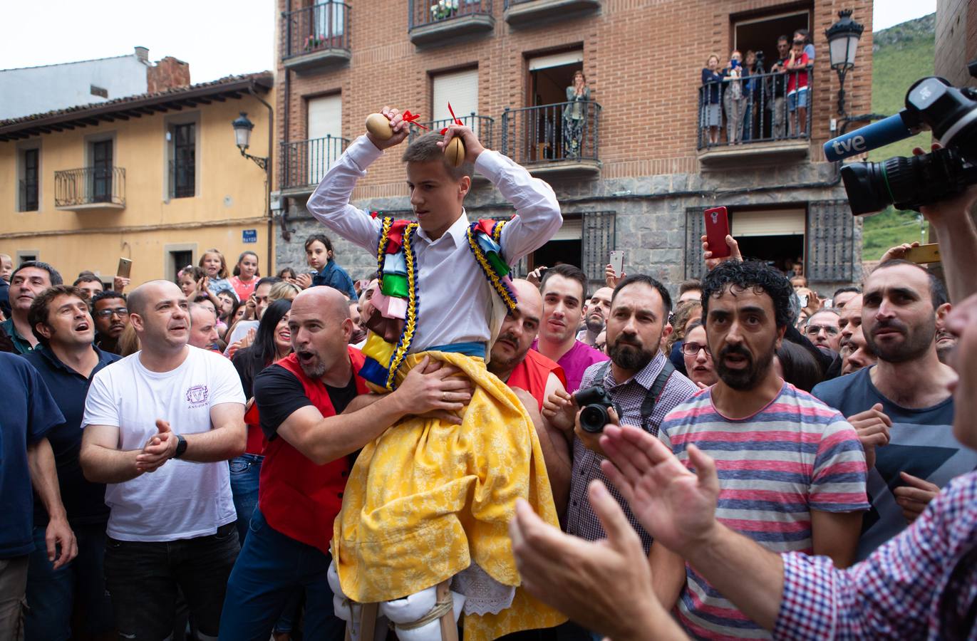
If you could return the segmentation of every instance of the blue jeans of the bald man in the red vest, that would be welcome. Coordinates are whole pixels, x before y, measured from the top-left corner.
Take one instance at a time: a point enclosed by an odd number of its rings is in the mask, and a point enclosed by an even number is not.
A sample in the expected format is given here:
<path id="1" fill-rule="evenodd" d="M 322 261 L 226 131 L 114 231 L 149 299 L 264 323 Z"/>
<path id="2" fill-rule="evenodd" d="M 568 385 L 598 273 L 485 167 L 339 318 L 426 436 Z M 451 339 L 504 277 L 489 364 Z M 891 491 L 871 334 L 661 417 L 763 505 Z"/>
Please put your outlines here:
<path id="1" fill-rule="evenodd" d="M 221 616 L 225 641 L 267 641 L 295 590 L 306 590 L 303 635 L 317 641 L 342 641 L 346 624 L 332 612 L 326 579 L 332 558 L 312 545 L 276 532 L 261 510 L 251 516 Z"/>

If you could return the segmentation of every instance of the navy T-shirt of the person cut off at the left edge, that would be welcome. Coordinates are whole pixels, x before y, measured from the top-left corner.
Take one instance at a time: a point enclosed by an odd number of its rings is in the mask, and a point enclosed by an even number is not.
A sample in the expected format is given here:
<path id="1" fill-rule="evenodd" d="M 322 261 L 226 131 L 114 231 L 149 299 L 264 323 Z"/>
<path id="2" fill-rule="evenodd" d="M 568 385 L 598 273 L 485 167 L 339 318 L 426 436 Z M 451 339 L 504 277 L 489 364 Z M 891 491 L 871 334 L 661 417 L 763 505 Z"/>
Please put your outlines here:
<path id="1" fill-rule="evenodd" d="M 0 353 L 0 559 L 34 550 L 34 498 L 27 447 L 43 439 L 64 416 L 37 370 L 21 357 Z"/>

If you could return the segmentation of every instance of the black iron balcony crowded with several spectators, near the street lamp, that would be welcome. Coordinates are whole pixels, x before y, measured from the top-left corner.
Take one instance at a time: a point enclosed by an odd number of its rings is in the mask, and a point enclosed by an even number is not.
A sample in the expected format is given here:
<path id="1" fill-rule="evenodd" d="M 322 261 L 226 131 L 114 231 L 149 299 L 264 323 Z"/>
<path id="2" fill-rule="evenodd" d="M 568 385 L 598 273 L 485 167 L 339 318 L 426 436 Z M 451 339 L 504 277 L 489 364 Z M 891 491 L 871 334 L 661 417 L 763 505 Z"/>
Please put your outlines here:
<path id="1" fill-rule="evenodd" d="M 804 76 L 806 86 L 798 91 Z M 707 83 L 698 91 L 697 147 L 702 163 L 718 166 L 807 156 L 814 104 L 810 69 L 756 73 Z M 709 127 L 717 112 L 720 126 Z"/>

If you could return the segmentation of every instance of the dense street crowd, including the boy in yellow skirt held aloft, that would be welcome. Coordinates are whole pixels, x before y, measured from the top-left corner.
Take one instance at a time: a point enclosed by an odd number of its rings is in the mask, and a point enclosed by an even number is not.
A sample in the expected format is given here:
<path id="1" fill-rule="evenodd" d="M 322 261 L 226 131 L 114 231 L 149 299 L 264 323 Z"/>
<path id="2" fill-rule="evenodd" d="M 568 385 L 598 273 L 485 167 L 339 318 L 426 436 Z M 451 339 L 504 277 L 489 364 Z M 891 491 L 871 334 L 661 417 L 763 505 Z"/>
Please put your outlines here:
<path id="1" fill-rule="evenodd" d="M 365 278 L 321 233 L 107 290 L 0 255 L 0 638 L 338 640 L 371 602 L 402 639 L 973 638 L 977 192 L 923 209 L 947 284 L 902 245 L 819 292 L 732 236 L 701 280 L 510 278 L 549 186 L 452 125 L 404 153 L 417 222 L 370 217 L 384 114 L 310 200 Z M 465 218 L 473 167 L 511 221 Z"/>

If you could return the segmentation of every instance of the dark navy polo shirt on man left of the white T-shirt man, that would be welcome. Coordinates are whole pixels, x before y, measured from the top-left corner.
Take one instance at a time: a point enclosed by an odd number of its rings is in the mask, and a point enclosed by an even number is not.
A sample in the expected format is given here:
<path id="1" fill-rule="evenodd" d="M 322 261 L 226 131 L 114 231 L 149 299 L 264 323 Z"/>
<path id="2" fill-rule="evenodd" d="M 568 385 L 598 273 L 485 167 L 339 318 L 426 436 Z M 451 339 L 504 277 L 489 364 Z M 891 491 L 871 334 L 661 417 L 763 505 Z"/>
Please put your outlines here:
<path id="1" fill-rule="evenodd" d="M 58 485 L 61 489 L 67 521 L 72 526 L 108 521 L 106 486 L 85 479 L 78 455 L 81 453 L 81 417 L 85 411 L 85 396 L 92 377 L 109 363 L 122 357 L 93 347 L 99 363 L 92 375 L 85 378 L 58 360 L 54 352 L 38 347 L 23 358 L 34 365 L 51 391 L 51 396 L 64 414 L 64 423 L 48 433 L 48 441 L 58 466 Z M 34 500 L 34 526 L 46 526 L 48 513 L 39 500 Z"/>

